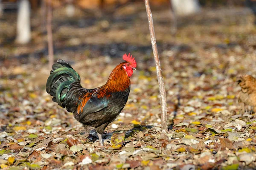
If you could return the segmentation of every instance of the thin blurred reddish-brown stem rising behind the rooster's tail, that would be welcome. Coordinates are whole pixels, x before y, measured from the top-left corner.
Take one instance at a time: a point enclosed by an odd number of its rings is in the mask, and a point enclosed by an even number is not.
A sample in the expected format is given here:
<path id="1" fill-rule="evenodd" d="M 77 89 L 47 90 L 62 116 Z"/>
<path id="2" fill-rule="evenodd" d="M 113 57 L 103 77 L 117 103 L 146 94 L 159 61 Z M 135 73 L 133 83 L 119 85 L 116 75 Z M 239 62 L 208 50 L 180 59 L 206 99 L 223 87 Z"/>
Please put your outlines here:
<path id="1" fill-rule="evenodd" d="M 53 65 L 53 42 L 52 42 L 52 4 L 48 1 L 47 6 L 47 41 L 48 41 L 48 55 L 49 55 L 49 69 Z"/>

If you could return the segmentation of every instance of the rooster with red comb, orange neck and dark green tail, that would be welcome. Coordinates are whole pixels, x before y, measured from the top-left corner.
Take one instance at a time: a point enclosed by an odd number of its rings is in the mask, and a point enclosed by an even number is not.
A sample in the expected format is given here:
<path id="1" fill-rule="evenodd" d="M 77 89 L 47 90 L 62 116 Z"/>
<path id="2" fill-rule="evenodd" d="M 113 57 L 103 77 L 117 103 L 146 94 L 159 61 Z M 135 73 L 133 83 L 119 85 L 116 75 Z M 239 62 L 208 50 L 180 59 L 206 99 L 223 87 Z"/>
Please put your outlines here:
<path id="1" fill-rule="evenodd" d="M 46 91 L 53 96 L 52 101 L 72 112 L 85 128 L 95 127 L 101 145 L 105 128 L 125 107 L 130 93 L 130 77 L 136 70 L 137 63 L 132 55 L 124 54 L 123 59 L 125 62 L 117 65 L 106 84 L 98 88 L 83 88 L 79 74 L 61 59 L 52 65 L 47 79 Z"/>

